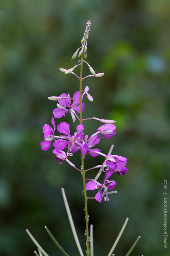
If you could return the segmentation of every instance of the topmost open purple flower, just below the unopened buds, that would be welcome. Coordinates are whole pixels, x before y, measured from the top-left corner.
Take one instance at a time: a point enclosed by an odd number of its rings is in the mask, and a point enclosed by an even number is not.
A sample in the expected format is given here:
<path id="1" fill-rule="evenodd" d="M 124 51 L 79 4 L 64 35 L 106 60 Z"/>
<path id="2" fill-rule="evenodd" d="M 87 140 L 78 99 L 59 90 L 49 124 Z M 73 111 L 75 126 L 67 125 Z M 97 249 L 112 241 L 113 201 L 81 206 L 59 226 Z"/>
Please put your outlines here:
<path id="1" fill-rule="evenodd" d="M 63 100 L 58 100 L 60 104 L 57 103 L 56 109 L 53 110 L 53 115 L 56 118 L 60 118 L 62 116 L 65 116 L 65 113 L 69 111 L 69 113 L 72 116 L 73 123 L 75 122 L 75 111 L 80 113 L 80 105 L 79 104 L 79 99 L 80 99 L 80 92 L 76 91 L 73 96 L 73 103 L 71 104 L 71 98 L 70 95 L 62 93 L 59 97 L 69 97 L 68 99 L 63 99 Z M 82 95 L 82 100 L 83 100 L 83 95 Z M 75 110 L 75 111 L 74 111 Z M 84 102 L 82 102 L 82 111 L 84 110 Z M 75 115 L 74 115 L 75 114 Z"/>

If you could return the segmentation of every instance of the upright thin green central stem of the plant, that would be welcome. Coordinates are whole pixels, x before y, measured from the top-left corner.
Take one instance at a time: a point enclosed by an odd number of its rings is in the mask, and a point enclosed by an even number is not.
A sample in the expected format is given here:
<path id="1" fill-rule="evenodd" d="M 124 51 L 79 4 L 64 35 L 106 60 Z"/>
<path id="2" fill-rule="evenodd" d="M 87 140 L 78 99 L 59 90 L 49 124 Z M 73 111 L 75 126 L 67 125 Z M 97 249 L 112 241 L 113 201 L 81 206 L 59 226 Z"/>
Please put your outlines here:
<path id="1" fill-rule="evenodd" d="M 86 38 L 85 38 L 86 40 Z M 83 82 L 83 57 L 84 51 L 81 58 L 81 66 L 80 66 L 80 124 L 83 124 L 82 120 L 82 82 Z M 85 180 L 85 171 L 84 171 L 84 159 L 83 154 L 81 153 L 81 162 L 82 162 L 82 176 L 83 176 L 83 187 L 84 187 L 84 201 L 85 201 L 85 221 L 86 221 L 86 247 L 87 247 L 87 256 L 89 256 L 89 231 L 88 231 L 88 212 L 87 212 L 87 193 L 86 193 L 86 180 Z"/>

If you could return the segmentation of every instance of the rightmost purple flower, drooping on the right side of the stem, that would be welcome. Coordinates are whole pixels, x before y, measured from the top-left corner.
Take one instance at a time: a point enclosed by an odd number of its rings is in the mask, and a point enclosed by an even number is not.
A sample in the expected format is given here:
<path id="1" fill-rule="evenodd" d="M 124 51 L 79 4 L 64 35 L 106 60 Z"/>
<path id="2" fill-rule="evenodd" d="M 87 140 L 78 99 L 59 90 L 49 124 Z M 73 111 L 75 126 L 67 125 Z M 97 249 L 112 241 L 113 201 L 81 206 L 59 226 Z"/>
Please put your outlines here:
<path id="1" fill-rule="evenodd" d="M 113 172 L 118 173 L 119 175 L 125 174 L 128 169 L 126 166 L 126 158 L 123 156 L 117 156 L 117 155 L 107 155 L 106 156 L 106 173 L 105 173 L 105 179 L 107 180 Z M 103 169 L 102 169 L 103 170 Z"/>

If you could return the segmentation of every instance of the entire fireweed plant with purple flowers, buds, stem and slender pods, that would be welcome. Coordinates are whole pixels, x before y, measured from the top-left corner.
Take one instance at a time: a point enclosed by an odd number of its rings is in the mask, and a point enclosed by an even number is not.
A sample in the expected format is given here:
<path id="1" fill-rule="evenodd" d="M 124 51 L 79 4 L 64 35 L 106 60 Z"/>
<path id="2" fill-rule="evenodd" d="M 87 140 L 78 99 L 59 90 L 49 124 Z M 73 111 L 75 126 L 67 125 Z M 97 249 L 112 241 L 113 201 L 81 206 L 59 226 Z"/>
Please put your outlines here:
<path id="1" fill-rule="evenodd" d="M 83 192 L 84 192 L 84 201 L 85 201 L 85 223 L 86 223 L 86 230 L 85 230 L 85 236 L 86 236 L 86 254 L 87 256 L 94 255 L 94 250 L 93 250 L 93 225 L 90 225 L 90 232 L 89 232 L 89 215 L 88 215 L 88 209 L 87 209 L 87 199 L 95 199 L 99 203 L 101 203 L 102 200 L 104 201 L 109 201 L 108 196 L 110 194 L 117 193 L 117 191 L 110 191 L 113 190 L 116 186 L 115 180 L 111 179 L 113 176 L 113 173 L 117 173 L 118 175 L 124 175 L 126 172 L 128 172 L 128 169 L 125 167 L 126 166 L 126 157 L 123 156 L 118 156 L 118 155 L 112 155 L 112 150 L 113 146 L 111 146 L 108 154 L 104 154 L 100 151 L 99 148 L 94 148 L 96 145 L 100 142 L 101 139 L 106 139 L 108 140 L 112 136 L 116 134 L 116 126 L 114 125 L 115 121 L 114 120 L 107 120 L 107 119 L 100 119 L 97 117 L 89 117 L 86 119 L 83 119 L 82 117 L 82 112 L 84 111 L 85 104 L 83 102 L 83 97 L 86 95 L 87 99 L 89 101 L 93 101 L 92 96 L 88 93 L 89 88 L 88 86 L 85 87 L 85 89 L 82 89 L 82 82 L 85 78 L 87 77 L 102 77 L 104 73 L 98 73 L 96 74 L 94 69 L 89 65 L 88 62 L 86 62 L 84 59 L 87 59 L 87 40 L 89 36 L 89 31 L 91 27 L 91 22 L 90 20 L 86 23 L 86 29 L 83 35 L 83 38 L 81 40 L 82 46 L 77 49 L 77 51 L 73 54 L 72 60 L 74 60 L 77 55 L 78 57 L 81 57 L 81 59 L 78 61 L 78 65 L 75 65 L 73 68 L 70 69 L 64 69 L 61 68 L 60 71 L 65 73 L 66 75 L 68 74 L 73 74 L 78 79 L 80 80 L 80 88 L 79 91 L 76 91 L 71 98 L 69 94 L 62 93 L 60 96 L 52 96 L 49 97 L 49 100 L 52 101 L 58 101 L 57 103 L 57 108 L 53 110 L 53 115 L 51 119 L 51 123 L 53 128 L 50 125 L 44 125 L 43 126 L 43 133 L 44 133 L 44 141 L 40 143 L 41 149 L 46 151 L 51 147 L 52 141 L 53 141 L 53 154 L 55 156 L 55 160 L 59 163 L 62 164 L 63 162 L 69 163 L 73 168 L 75 168 L 77 171 L 82 174 L 83 177 Z M 78 54 L 79 52 L 79 54 Z M 83 64 L 87 64 L 90 70 L 90 75 L 83 77 Z M 76 67 L 80 66 L 80 76 L 76 75 L 73 71 Z M 78 115 L 78 114 L 79 115 Z M 61 122 L 60 124 L 55 125 L 55 120 L 58 122 L 59 118 L 65 117 L 66 114 L 71 114 L 72 121 L 73 123 L 76 121 L 76 118 L 80 121 L 80 124 L 77 125 L 75 128 L 74 134 L 70 134 L 70 126 L 66 122 Z M 54 118 L 56 118 L 54 120 Z M 84 123 L 86 122 L 85 120 L 88 119 L 96 119 L 99 122 L 103 123 L 97 131 L 94 134 L 91 134 L 89 139 L 88 135 L 84 135 L 83 130 L 84 130 Z M 83 123 L 83 121 L 85 121 Z M 55 130 L 57 129 L 58 135 L 54 135 Z M 63 151 L 65 150 L 65 151 Z M 77 168 L 68 158 L 71 158 L 71 156 L 77 152 L 81 152 L 81 167 Z M 103 162 L 100 163 L 100 165 L 97 165 L 95 167 L 92 167 L 88 170 L 84 169 L 84 159 L 85 155 L 90 154 L 92 157 L 97 157 L 98 155 L 103 156 Z M 85 178 L 85 173 L 86 171 L 95 169 L 95 168 L 100 168 L 96 177 L 93 179 L 86 179 Z M 104 174 L 103 177 L 103 182 L 99 183 L 97 180 L 101 174 Z M 86 183 L 86 180 L 88 182 Z M 94 197 L 88 197 L 87 196 L 87 190 L 96 190 L 96 193 L 94 192 Z M 69 205 L 67 202 L 67 198 L 65 195 L 64 188 L 62 188 L 62 195 L 66 207 L 66 211 L 68 214 L 69 222 L 71 225 L 71 229 L 73 232 L 73 236 L 75 239 L 75 242 L 78 246 L 78 250 L 81 256 L 84 256 L 79 239 L 77 236 L 77 233 L 75 231 L 74 223 L 71 217 Z M 128 218 L 126 218 L 126 221 L 114 243 L 112 246 L 110 252 L 108 253 L 108 256 L 111 256 L 113 254 L 113 251 L 121 237 L 121 234 L 123 233 L 123 230 L 128 222 Z M 58 244 L 58 242 L 55 240 L 55 238 L 52 236 L 50 231 L 48 230 L 47 227 L 45 227 L 49 236 L 53 240 L 53 242 L 57 245 L 57 247 L 62 251 L 62 253 L 65 256 L 68 256 L 68 254 L 63 250 L 63 248 Z M 29 230 L 27 230 L 27 233 L 29 234 L 30 238 L 33 240 L 33 242 L 36 244 L 38 247 L 38 253 L 35 251 L 34 253 L 38 256 L 42 256 L 44 254 L 45 256 L 48 256 L 48 254 L 43 250 L 43 248 L 37 243 L 37 241 L 34 239 L 34 237 L 31 235 Z M 136 242 L 134 245 L 131 247 L 129 252 L 126 254 L 126 256 L 130 255 L 132 250 L 134 249 L 135 245 L 137 244 L 138 240 L 140 237 L 137 238 Z M 114 255 L 114 254 L 113 254 Z"/>

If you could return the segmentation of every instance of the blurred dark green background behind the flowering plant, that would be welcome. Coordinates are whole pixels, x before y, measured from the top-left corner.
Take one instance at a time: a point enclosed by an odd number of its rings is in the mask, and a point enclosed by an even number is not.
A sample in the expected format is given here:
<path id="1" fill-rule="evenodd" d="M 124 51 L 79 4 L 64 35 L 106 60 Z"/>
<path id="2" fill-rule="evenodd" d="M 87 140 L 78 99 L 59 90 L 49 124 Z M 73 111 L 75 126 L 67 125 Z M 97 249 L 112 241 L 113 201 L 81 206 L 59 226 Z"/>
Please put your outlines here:
<path id="1" fill-rule="evenodd" d="M 129 217 L 115 255 L 124 256 L 140 235 L 132 256 L 168 256 L 163 192 L 164 180 L 170 184 L 170 1 L 2 0 L 0 7 L 0 255 L 34 255 L 28 228 L 50 256 L 61 256 L 44 226 L 70 256 L 79 255 L 61 187 L 86 250 L 82 176 L 67 163 L 58 165 L 53 148 L 42 151 L 40 142 L 42 127 L 51 125 L 56 108 L 47 97 L 79 90 L 79 80 L 59 68 L 77 64 L 78 58 L 71 57 L 91 20 L 87 61 L 105 75 L 84 80 L 94 102 L 84 97 L 83 115 L 116 120 L 117 134 L 101 140 L 99 147 L 107 154 L 114 144 L 113 154 L 127 157 L 129 169 L 124 176 L 114 174 L 118 194 L 109 202 L 88 200 L 95 255 L 108 254 Z M 88 74 L 84 65 L 84 76 Z M 79 124 L 69 114 L 55 122 L 69 122 L 71 133 Z M 90 136 L 101 123 L 84 125 Z M 77 152 L 70 160 L 79 167 L 79 158 Z M 86 169 L 102 161 L 88 155 Z"/>

